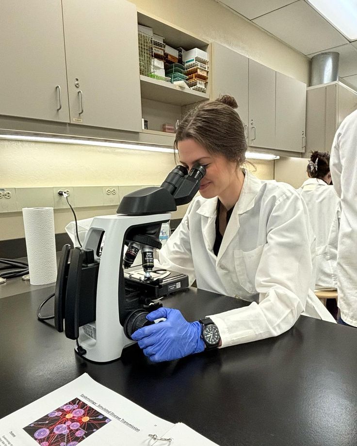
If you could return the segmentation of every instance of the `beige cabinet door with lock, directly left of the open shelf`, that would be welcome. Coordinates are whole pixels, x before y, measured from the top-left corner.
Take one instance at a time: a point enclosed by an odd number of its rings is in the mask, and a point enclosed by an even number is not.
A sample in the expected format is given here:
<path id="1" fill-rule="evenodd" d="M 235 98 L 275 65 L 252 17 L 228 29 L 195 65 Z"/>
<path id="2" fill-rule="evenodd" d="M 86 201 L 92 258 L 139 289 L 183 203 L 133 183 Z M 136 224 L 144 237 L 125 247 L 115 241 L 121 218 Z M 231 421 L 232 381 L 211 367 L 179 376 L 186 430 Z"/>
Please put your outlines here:
<path id="1" fill-rule="evenodd" d="M 141 130 L 137 13 L 125 0 L 63 0 L 72 123 Z"/>

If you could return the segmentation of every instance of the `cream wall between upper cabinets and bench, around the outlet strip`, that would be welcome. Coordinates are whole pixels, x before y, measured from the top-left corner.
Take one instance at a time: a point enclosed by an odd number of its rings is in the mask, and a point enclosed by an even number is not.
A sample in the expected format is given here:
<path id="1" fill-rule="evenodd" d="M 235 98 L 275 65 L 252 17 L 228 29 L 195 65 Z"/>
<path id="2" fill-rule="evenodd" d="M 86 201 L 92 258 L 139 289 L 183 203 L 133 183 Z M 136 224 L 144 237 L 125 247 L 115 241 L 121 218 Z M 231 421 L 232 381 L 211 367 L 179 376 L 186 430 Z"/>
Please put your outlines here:
<path id="1" fill-rule="evenodd" d="M 102 185 L 158 185 L 175 166 L 172 153 L 112 147 L 0 140 L 1 187 L 65 187 Z M 274 178 L 272 161 L 254 162 L 255 175 Z M 78 219 L 116 212 L 116 206 L 77 208 Z M 183 216 L 180 206 L 173 218 Z M 73 220 L 68 209 L 55 209 L 55 232 Z M 0 213 L 0 240 L 24 237 L 20 212 Z"/>

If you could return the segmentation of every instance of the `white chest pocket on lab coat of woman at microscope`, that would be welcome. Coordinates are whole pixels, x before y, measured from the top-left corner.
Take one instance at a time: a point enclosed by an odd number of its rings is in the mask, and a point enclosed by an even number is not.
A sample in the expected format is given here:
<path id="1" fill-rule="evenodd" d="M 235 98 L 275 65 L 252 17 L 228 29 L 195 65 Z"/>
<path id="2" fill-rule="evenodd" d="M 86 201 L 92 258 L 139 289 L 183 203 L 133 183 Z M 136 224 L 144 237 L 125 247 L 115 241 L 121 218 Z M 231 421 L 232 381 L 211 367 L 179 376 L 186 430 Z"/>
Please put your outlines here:
<path id="1" fill-rule="evenodd" d="M 252 251 L 234 251 L 234 262 L 238 281 L 249 293 L 256 293 L 255 276 L 258 270 L 264 245 L 257 246 Z"/>

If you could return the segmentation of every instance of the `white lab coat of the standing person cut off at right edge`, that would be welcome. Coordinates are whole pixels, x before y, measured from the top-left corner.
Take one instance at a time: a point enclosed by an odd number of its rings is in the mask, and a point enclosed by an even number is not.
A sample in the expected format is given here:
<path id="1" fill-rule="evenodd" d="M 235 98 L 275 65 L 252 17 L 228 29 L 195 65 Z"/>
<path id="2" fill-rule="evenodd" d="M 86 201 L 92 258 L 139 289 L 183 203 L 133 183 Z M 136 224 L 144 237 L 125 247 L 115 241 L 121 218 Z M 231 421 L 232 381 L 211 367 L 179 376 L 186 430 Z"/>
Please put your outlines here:
<path id="1" fill-rule="evenodd" d="M 347 116 L 332 144 L 330 169 L 341 197 L 337 254 L 341 318 L 357 327 L 357 110 Z"/>

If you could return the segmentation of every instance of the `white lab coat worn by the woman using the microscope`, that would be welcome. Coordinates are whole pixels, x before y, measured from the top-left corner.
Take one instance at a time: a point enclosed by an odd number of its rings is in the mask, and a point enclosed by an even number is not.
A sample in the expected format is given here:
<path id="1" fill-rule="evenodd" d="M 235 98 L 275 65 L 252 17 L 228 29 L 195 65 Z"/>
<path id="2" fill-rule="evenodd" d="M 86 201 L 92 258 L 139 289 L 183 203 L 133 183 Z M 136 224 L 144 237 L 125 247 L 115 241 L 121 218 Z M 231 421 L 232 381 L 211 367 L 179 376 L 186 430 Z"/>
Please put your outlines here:
<path id="1" fill-rule="evenodd" d="M 245 171 L 243 189 L 216 257 L 217 197 L 195 198 L 160 251 L 162 267 L 185 273 L 190 284 L 243 298 L 244 308 L 210 315 L 222 347 L 289 330 L 307 315 L 334 321 L 309 290 L 312 261 L 307 208 L 291 186 Z M 206 315 L 202 315 L 206 316 Z"/>

